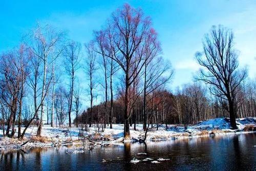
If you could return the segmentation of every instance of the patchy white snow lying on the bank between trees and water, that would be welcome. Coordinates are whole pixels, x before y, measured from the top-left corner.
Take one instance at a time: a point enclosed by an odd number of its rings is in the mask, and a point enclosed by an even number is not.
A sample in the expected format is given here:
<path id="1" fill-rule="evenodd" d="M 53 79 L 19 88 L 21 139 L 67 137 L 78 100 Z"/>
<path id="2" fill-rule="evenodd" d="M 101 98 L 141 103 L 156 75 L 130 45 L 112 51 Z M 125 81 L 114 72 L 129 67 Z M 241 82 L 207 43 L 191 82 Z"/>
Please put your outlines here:
<path id="1" fill-rule="evenodd" d="M 243 118 L 237 119 L 238 130 L 234 131 L 230 129 L 230 123 L 228 118 L 218 118 L 210 119 L 206 121 L 198 122 L 195 125 L 188 125 L 185 130 L 183 125 L 167 125 L 167 130 L 165 125 L 160 125 L 158 131 L 153 129 L 147 133 L 147 141 L 154 140 L 167 140 L 167 139 L 177 139 L 181 137 L 191 137 L 191 136 L 209 136 L 209 133 L 228 133 L 228 132 L 240 132 L 243 131 L 246 125 L 256 124 L 256 118 Z M 74 142 L 78 143 L 78 135 L 80 128 L 72 127 L 51 127 L 50 125 L 44 125 L 42 130 L 42 138 L 36 138 L 36 126 L 31 126 L 26 132 L 25 139 L 20 141 L 7 137 L 3 137 L 3 130 L 0 128 L 0 149 L 1 148 L 20 148 L 17 146 L 23 144 L 26 141 L 29 141 L 26 147 L 36 147 L 36 146 L 55 146 L 56 144 L 66 144 L 71 142 L 74 145 Z M 17 128 L 16 128 L 17 129 Z M 256 129 L 256 127 L 255 127 Z M 254 131 L 255 131 L 254 129 Z M 106 140 L 109 140 L 108 144 L 118 143 L 118 139 L 123 137 L 123 124 L 113 124 L 113 129 L 110 129 L 109 126 L 106 127 L 104 132 L 97 134 L 98 128 L 96 126 L 91 127 L 88 132 L 84 132 L 85 136 L 97 136 L 97 137 L 107 137 Z M 101 130 L 101 129 L 100 129 Z M 17 132 L 17 131 L 16 131 Z M 144 131 L 142 129 L 142 124 L 136 125 L 136 131 L 133 129 L 133 126 L 130 127 L 131 137 L 135 140 L 142 138 L 144 136 Z M 203 134 L 204 133 L 204 134 Z M 15 134 L 17 136 L 17 133 Z M 104 141 L 106 141 L 104 140 Z M 102 139 L 101 139 L 102 141 Z M 81 142 L 80 142 L 81 144 Z M 102 144 L 102 142 L 101 142 Z M 135 161 L 134 161 L 135 162 Z"/>

